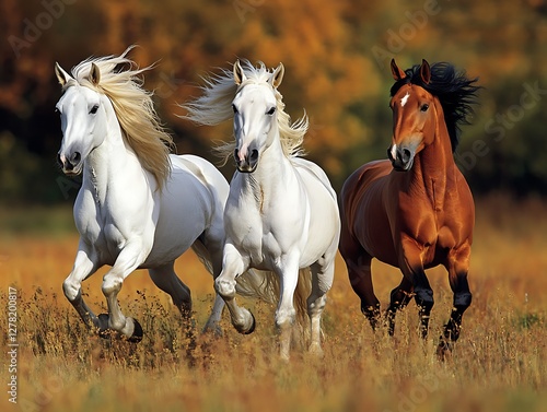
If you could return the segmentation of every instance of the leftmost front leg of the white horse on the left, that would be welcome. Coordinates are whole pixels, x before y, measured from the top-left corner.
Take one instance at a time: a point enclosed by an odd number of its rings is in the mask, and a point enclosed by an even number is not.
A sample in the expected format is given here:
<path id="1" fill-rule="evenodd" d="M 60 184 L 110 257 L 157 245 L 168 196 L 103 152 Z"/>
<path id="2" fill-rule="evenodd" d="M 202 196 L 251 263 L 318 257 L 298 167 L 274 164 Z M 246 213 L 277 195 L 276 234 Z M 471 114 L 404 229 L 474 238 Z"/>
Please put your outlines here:
<path id="1" fill-rule="evenodd" d="M 80 246 L 74 260 L 72 272 L 62 283 L 62 291 L 67 299 L 72 304 L 84 323 L 91 328 L 104 329 L 106 323 L 88 307 L 82 297 L 82 282 L 91 276 L 98 269 L 100 264 L 95 259 L 95 254 L 80 240 Z"/>

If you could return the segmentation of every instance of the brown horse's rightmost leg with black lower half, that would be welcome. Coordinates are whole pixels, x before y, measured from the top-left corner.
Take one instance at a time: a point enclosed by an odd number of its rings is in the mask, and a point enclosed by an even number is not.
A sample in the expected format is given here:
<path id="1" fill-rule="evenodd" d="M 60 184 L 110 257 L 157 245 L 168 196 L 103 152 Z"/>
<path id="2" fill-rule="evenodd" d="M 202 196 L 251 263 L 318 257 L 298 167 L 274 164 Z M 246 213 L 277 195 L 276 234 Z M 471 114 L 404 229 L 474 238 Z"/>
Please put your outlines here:
<path id="1" fill-rule="evenodd" d="M 472 293 L 467 283 L 467 271 L 469 268 L 470 248 L 468 245 L 457 251 L 449 254 L 449 281 L 452 292 L 454 293 L 454 304 L 447 323 L 444 326 L 444 332 L 439 343 L 438 353 L 442 355 L 446 350 L 452 348 L 459 338 L 462 329 L 462 317 L 464 311 L 472 304 Z"/>

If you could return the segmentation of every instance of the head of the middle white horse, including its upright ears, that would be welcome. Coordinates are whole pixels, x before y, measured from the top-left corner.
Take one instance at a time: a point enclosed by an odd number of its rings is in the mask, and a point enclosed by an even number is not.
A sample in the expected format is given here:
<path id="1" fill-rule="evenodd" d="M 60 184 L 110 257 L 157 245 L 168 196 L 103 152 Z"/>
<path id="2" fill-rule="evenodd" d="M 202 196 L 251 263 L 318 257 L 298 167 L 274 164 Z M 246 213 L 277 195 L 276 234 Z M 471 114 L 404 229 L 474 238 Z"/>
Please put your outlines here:
<path id="1" fill-rule="evenodd" d="M 240 61 L 233 74 L 238 90 L 232 102 L 234 110 L 235 165 L 237 170 L 252 173 L 261 153 L 278 133 L 276 90 L 283 80 L 284 68 L 279 63 L 267 82 L 248 80 Z"/>

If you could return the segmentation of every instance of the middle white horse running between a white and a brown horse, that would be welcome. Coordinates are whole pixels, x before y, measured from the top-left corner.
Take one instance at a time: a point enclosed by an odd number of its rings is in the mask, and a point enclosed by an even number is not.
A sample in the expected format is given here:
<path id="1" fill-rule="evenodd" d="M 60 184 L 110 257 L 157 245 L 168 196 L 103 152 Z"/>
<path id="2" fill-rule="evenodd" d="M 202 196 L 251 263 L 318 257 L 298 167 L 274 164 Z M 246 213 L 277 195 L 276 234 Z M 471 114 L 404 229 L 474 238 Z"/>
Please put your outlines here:
<path id="1" fill-rule="evenodd" d="M 241 332 L 254 318 L 235 302 L 236 278 L 247 268 L 271 271 L 280 280 L 276 325 L 280 354 L 289 358 L 296 311 L 293 296 L 300 269 L 312 271 L 307 297 L 310 351 L 322 354 L 321 315 L 333 284 L 340 220 L 336 193 L 325 173 L 298 157 L 307 118 L 291 125 L 278 91 L 283 66 L 275 71 L 237 61 L 233 72 L 207 81 L 203 95 L 184 106 L 198 123 L 216 125 L 233 117 L 234 143 L 221 151 L 233 155 L 237 172 L 224 211 L 226 239 L 217 292 L 224 298 L 232 323 Z M 233 110 L 233 111 L 232 111 Z"/>

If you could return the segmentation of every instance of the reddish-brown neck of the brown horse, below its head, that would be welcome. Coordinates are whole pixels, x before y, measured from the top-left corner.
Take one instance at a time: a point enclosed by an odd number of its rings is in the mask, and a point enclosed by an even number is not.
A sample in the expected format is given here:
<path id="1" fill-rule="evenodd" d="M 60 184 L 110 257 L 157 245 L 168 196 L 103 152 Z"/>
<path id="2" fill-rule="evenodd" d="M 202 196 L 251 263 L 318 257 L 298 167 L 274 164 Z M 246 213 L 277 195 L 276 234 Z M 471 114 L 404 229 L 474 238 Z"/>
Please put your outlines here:
<path id="1" fill-rule="evenodd" d="M 415 157 L 408 185 L 411 190 L 427 193 L 434 209 L 442 210 L 445 195 L 455 183 L 456 170 L 449 131 L 441 113 L 433 142 Z"/>

